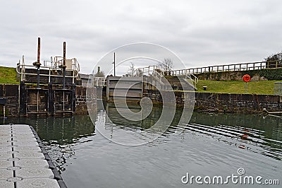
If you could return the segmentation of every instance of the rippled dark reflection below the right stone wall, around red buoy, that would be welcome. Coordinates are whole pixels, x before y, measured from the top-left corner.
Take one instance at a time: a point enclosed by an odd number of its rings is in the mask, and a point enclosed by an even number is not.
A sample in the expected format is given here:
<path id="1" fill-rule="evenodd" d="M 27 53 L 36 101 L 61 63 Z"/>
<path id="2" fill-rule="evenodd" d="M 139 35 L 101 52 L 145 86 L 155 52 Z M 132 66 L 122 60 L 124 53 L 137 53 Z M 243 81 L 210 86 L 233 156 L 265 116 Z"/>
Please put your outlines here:
<path id="1" fill-rule="evenodd" d="M 282 160 L 282 119 L 246 114 L 202 114 L 192 116 L 188 131 L 241 149 Z"/>

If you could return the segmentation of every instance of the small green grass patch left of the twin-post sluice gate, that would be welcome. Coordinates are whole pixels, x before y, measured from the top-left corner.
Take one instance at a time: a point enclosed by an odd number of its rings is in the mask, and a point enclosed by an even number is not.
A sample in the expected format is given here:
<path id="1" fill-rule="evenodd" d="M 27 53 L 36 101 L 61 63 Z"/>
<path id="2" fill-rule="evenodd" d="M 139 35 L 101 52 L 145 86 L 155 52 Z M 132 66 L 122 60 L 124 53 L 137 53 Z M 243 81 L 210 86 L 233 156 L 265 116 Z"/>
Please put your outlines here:
<path id="1" fill-rule="evenodd" d="M 19 83 L 16 68 L 0 66 L 0 83 Z"/>

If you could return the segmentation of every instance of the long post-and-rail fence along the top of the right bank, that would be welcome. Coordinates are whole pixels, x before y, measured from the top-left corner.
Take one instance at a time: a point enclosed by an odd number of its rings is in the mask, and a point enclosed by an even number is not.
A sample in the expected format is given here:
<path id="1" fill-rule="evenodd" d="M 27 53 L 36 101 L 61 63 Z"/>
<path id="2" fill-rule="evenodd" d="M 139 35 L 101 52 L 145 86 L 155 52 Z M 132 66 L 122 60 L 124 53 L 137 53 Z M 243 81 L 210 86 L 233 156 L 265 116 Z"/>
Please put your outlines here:
<path id="1" fill-rule="evenodd" d="M 244 64 L 225 64 L 216 66 L 204 66 L 200 68 L 192 69 L 180 69 L 170 71 L 171 76 L 181 75 L 181 74 L 202 74 L 207 72 L 221 72 L 221 71 L 250 71 L 256 69 L 273 69 L 281 68 L 282 61 L 261 61 L 254 63 L 244 63 Z"/>

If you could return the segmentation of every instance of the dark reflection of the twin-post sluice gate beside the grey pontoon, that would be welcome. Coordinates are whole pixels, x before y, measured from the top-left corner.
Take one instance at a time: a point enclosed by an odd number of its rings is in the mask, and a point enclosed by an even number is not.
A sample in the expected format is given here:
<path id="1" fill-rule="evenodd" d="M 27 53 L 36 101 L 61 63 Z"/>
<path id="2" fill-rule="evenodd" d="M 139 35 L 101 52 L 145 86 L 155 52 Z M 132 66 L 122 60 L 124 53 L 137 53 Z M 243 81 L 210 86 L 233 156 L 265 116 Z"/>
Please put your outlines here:
<path id="1" fill-rule="evenodd" d="M 75 146 L 92 141 L 94 125 L 88 116 L 34 117 L 6 119 L 6 124 L 29 124 L 35 128 L 59 172 L 66 170 L 67 160 L 75 155 Z"/>

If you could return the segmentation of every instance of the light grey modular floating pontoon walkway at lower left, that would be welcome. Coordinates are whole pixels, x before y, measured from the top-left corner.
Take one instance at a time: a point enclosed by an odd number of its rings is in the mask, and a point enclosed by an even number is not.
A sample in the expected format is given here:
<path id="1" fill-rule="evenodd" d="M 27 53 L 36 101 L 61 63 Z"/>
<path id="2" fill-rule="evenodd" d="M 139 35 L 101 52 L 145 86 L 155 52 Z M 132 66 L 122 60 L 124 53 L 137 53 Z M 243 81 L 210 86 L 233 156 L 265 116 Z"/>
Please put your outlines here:
<path id="1" fill-rule="evenodd" d="M 0 125 L 0 187 L 66 187 L 36 131 Z"/>

